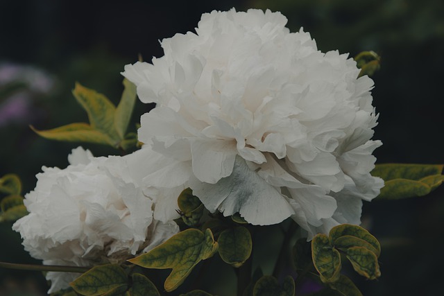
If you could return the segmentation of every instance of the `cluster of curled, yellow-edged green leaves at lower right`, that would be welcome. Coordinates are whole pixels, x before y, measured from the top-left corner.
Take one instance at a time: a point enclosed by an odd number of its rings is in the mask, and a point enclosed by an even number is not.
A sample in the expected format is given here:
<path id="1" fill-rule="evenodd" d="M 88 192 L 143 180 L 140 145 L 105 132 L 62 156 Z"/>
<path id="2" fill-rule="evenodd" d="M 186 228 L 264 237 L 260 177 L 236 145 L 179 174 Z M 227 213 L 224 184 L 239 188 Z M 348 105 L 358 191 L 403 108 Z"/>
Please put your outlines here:
<path id="1" fill-rule="evenodd" d="M 337 281 L 340 281 L 338 285 L 341 287 L 350 286 L 348 279 L 343 279 L 340 275 L 339 251 L 347 256 L 359 275 L 367 279 L 377 279 L 381 275 L 377 261 L 381 247 L 377 239 L 357 225 L 338 225 L 330 230 L 329 236 L 317 234 L 311 241 L 314 266 L 321 275 L 321 281 L 332 288 L 336 287 L 334 283 Z"/>

